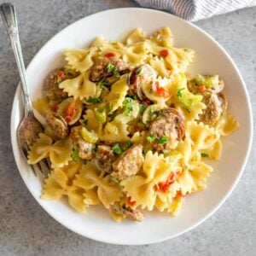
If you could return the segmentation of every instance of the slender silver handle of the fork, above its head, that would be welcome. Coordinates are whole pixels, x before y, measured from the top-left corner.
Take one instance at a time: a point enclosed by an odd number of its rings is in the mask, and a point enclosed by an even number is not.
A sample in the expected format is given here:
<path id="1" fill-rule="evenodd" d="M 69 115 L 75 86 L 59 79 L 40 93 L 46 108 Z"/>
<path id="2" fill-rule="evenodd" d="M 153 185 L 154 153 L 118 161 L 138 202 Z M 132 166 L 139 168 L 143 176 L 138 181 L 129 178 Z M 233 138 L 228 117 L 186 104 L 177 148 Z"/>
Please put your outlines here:
<path id="1" fill-rule="evenodd" d="M 20 84 L 25 103 L 25 114 L 32 114 L 32 102 L 29 96 L 28 86 L 26 84 L 26 69 L 20 47 L 20 37 L 18 31 L 18 22 L 16 18 L 15 7 L 11 3 L 3 3 L 0 6 L 0 13 L 3 23 L 6 27 L 12 48 L 15 54 L 15 60 L 20 74 Z"/>

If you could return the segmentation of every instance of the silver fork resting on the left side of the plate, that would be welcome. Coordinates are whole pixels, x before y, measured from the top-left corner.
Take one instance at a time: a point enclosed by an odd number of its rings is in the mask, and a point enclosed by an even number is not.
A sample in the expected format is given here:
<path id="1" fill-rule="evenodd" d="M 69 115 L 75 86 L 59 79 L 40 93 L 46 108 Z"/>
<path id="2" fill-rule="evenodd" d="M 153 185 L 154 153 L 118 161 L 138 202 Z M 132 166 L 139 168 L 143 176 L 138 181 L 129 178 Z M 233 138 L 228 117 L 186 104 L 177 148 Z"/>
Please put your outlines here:
<path id="1" fill-rule="evenodd" d="M 44 131 L 44 129 L 43 125 L 41 125 L 38 119 L 35 118 L 32 111 L 32 102 L 26 84 L 26 70 L 20 47 L 15 7 L 10 3 L 3 3 L 0 6 L 0 12 L 14 50 L 15 60 L 20 74 L 20 84 L 23 102 L 25 104 L 25 114 L 20 122 L 17 138 L 20 149 L 27 160 L 29 148 L 38 138 L 38 134 Z M 41 160 L 38 162 L 38 164 L 32 165 L 32 170 L 34 171 L 35 175 L 38 176 L 41 181 L 43 181 L 44 178 L 48 176 L 50 170 L 49 162 L 47 160 Z"/>

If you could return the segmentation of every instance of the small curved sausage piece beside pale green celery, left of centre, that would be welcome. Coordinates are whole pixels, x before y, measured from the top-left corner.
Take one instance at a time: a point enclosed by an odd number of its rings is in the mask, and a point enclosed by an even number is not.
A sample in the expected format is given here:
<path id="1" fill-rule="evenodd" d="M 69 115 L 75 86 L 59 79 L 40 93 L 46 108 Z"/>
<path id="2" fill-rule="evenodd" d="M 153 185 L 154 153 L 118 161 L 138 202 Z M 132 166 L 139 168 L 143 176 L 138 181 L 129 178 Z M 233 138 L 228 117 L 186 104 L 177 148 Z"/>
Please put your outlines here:
<path id="1" fill-rule="evenodd" d="M 84 141 L 80 134 L 81 127 L 75 126 L 70 131 L 71 142 L 74 148 L 79 149 L 79 157 L 84 160 L 91 160 L 94 156 L 95 144 Z"/>

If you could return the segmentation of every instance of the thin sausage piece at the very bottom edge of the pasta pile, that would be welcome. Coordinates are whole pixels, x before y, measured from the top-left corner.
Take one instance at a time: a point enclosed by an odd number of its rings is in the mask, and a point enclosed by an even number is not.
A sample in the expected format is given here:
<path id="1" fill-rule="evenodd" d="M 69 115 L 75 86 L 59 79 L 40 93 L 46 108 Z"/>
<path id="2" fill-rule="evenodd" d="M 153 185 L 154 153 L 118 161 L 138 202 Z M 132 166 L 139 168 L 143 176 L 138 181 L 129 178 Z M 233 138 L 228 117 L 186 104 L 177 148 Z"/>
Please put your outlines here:
<path id="1" fill-rule="evenodd" d="M 131 220 L 143 221 L 143 212 L 140 212 L 137 209 L 131 209 L 125 205 L 121 206 L 119 203 L 115 203 L 111 209 L 113 212 L 116 212 L 119 215 L 122 215 L 123 218 L 129 218 Z"/>

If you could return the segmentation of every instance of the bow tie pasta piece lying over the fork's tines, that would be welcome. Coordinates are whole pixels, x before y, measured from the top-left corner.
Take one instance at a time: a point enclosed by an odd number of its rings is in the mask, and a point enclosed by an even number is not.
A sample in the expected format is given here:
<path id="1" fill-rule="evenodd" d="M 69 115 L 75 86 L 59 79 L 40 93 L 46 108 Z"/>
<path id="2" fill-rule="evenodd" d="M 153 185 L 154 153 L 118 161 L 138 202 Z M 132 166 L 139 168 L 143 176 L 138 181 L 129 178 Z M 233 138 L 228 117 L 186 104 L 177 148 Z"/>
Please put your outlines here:
<path id="1" fill-rule="evenodd" d="M 71 143 L 69 139 L 59 140 L 53 144 L 52 139 L 40 133 L 36 143 L 32 145 L 28 154 L 28 164 L 34 165 L 49 157 L 52 167 L 62 167 L 71 160 Z"/>

